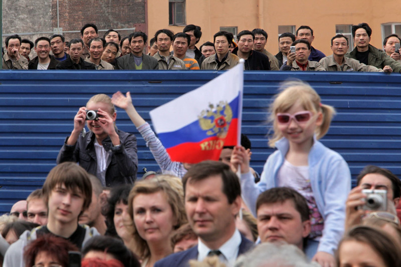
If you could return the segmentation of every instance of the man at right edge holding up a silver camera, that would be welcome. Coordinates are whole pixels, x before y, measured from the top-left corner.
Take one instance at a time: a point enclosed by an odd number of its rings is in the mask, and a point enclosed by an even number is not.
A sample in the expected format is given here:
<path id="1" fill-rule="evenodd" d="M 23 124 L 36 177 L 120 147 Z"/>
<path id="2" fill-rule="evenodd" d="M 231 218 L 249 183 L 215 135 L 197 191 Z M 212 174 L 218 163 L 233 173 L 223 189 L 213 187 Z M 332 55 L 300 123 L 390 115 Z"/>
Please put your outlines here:
<path id="1" fill-rule="evenodd" d="M 386 207 L 384 211 L 396 214 L 395 207 L 401 196 L 401 181 L 397 176 L 387 169 L 368 165 L 363 168 L 356 180 L 357 186 L 351 190 L 345 203 L 345 229 L 360 224 L 366 213 L 383 210 L 384 207 Z M 371 191 L 368 196 L 366 191 L 362 191 L 364 189 L 385 190 L 386 198 L 381 196 L 380 191 Z M 366 202 L 366 198 L 372 198 L 372 195 L 382 202 L 377 209 L 369 208 L 371 205 Z"/>

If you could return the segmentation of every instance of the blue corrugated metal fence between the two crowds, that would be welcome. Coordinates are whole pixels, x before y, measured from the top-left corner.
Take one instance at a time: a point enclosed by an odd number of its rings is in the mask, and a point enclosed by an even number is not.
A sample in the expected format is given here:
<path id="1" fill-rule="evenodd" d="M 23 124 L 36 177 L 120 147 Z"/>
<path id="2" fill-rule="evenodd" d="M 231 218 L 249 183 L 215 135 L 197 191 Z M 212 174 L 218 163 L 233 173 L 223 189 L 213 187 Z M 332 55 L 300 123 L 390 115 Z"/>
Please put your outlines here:
<path id="1" fill-rule="evenodd" d="M 0 213 L 40 188 L 73 118 L 88 99 L 131 92 L 140 115 L 191 91 L 221 72 L 211 71 L 2 71 L 0 72 Z M 252 142 L 251 165 L 262 172 L 274 151 L 267 145 L 268 106 L 281 82 L 306 81 L 337 115 L 322 143 L 348 162 L 352 177 L 367 164 L 401 175 L 401 75 L 384 73 L 245 72 L 242 131 Z M 219 88 L 216 88 L 219 90 Z M 195 99 L 193 100 L 196 101 Z M 177 107 L 178 112 L 185 112 Z M 168 118 L 166 118 L 168 119 Z M 117 127 L 138 139 L 139 173 L 157 171 L 140 134 L 121 109 Z M 354 182 L 354 180 L 353 180 Z"/>

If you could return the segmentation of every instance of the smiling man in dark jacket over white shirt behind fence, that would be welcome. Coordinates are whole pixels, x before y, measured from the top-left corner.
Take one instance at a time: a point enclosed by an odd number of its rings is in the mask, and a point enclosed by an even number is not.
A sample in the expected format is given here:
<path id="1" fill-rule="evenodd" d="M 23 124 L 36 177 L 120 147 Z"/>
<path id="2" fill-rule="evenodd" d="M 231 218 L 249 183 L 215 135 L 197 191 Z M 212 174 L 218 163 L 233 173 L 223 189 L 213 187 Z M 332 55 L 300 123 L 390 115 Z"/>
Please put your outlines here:
<path id="1" fill-rule="evenodd" d="M 50 55 L 50 39 L 47 37 L 39 37 L 35 40 L 35 52 L 38 56 L 29 62 L 29 70 L 55 70 L 60 63 Z"/>

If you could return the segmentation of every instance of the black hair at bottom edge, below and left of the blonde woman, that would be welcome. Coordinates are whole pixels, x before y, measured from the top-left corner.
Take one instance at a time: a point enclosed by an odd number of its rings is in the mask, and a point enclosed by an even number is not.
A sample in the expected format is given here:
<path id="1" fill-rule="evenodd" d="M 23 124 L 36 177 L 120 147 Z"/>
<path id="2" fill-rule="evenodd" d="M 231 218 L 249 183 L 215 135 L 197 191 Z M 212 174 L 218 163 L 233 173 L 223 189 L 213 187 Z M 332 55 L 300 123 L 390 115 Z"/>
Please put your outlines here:
<path id="1" fill-rule="evenodd" d="M 82 248 L 82 256 L 89 251 L 100 251 L 111 254 L 115 259 L 121 261 L 124 267 L 139 267 L 140 263 L 135 255 L 129 250 L 124 243 L 111 236 L 97 235 L 89 239 Z"/>

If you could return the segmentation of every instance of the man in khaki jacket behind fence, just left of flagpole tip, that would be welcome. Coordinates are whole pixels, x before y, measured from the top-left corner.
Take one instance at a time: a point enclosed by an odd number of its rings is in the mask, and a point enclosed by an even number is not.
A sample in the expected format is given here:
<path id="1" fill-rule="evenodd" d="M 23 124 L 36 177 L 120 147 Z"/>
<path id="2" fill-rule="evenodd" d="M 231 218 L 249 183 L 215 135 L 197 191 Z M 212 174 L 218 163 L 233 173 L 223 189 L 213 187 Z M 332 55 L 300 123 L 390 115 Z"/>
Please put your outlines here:
<path id="1" fill-rule="evenodd" d="M 202 62 L 202 70 L 224 71 L 234 68 L 240 58 L 229 51 L 230 45 L 233 43 L 233 34 L 225 31 L 216 33 L 213 36 L 216 54 L 210 56 Z"/>

